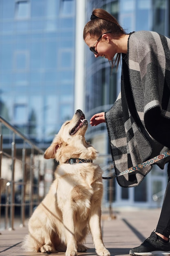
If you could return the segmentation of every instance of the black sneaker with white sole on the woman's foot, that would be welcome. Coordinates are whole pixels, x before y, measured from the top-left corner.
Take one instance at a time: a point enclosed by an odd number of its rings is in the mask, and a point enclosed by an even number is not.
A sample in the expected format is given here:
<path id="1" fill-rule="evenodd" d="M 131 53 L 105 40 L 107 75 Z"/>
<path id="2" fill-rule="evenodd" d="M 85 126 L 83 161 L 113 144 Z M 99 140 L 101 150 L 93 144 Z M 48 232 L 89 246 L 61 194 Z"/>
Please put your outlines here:
<path id="1" fill-rule="evenodd" d="M 155 232 L 152 232 L 144 243 L 130 250 L 130 255 L 141 256 L 170 256 L 170 238 L 166 242 L 159 239 Z"/>

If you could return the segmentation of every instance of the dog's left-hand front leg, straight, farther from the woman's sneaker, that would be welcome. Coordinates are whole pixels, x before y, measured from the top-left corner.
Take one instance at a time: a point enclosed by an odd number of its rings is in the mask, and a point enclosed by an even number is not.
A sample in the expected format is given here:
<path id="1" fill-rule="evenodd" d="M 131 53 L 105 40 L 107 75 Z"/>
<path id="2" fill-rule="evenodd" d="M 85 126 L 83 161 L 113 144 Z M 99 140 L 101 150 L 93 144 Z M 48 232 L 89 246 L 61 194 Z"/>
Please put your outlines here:
<path id="1" fill-rule="evenodd" d="M 77 256 L 77 239 L 75 234 L 75 214 L 70 205 L 64 206 L 63 224 L 66 235 L 66 256 Z"/>

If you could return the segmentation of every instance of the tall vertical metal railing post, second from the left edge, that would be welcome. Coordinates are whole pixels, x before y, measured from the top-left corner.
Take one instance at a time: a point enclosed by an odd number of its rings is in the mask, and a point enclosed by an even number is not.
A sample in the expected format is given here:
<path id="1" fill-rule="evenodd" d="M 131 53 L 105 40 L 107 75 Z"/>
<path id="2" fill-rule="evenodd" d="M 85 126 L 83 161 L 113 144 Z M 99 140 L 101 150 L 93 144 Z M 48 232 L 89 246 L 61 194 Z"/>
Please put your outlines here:
<path id="1" fill-rule="evenodd" d="M 11 194 L 10 194 L 10 217 L 9 217 L 9 230 L 13 230 L 13 220 L 14 220 L 14 198 L 15 198 L 15 189 L 14 189 L 14 173 L 15 173 L 15 133 L 13 132 L 13 140 L 11 146 L 11 157 L 12 157 L 12 177 L 11 177 Z"/>

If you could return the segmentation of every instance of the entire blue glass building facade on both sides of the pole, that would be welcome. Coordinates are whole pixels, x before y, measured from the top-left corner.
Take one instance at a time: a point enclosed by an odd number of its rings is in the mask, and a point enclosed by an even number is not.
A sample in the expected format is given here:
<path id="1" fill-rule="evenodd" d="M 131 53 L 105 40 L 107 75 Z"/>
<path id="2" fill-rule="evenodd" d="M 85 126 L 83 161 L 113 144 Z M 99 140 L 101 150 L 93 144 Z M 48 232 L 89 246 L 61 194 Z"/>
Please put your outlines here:
<path id="1" fill-rule="evenodd" d="M 86 22 L 94 8 L 103 8 L 127 32 L 153 30 L 170 36 L 169 0 L 85 3 Z M 75 112 L 75 27 L 76 0 L 0 0 L 0 116 L 42 149 L 49 146 L 63 122 Z M 105 58 L 96 59 L 87 46 L 84 54 L 84 112 L 89 120 L 115 102 L 121 66 L 111 73 Z M 11 141 L 9 134 L 3 133 L 3 137 L 7 144 Z M 112 159 L 106 124 L 89 126 L 86 139 L 99 151 L 97 161 L 108 175 Z M 139 187 L 131 189 L 122 189 L 116 180 L 110 182 L 104 181 L 106 206 L 111 200 L 114 206 L 152 207 L 157 205 L 152 195 L 165 188 L 167 175 L 166 170 L 153 168 Z"/>

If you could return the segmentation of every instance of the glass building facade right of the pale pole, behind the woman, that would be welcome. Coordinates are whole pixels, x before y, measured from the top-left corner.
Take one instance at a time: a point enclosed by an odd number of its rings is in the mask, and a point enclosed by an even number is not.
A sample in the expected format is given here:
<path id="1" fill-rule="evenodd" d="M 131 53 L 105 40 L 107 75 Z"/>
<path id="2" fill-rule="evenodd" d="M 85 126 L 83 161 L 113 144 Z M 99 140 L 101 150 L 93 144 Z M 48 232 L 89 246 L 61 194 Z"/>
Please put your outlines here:
<path id="1" fill-rule="evenodd" d="M 111 13 L 121 26 L 130 33 L 131 31 L 151 30 L 170 36 L 170 5 L 169 0 L 87 0 L 86 22 L 90 20 L 92 10 L 95 8 L 106 9 Z M 86 113 L 90 119 L 95 113 L 107 111 L 113 106 L 120 91 L 121 66 L 118 70 L 111 68 L 105 58 L 95 58 L 94 54 L 86 47 Z M 99 151 L 99 162 L 105 175 L 113 173 L 109 163 L 112 162 L 106 124 L 88 128 L 87 138 Z M 112 198 L 109 198 L 112 182 Z M 157 207 L 161 202 L 163 190 L 166 188 L 166 168 L 160 170 L 154 166 L 152 171 L 135 188 L 121 188 L 116 180 L 104 181 L 107 203 L 111 200 L 114 206 L 148 206 Z M 142 193 L 141 193 L 142 191 Z M 152 196 L 158 196 L 157 202 Z"/>

